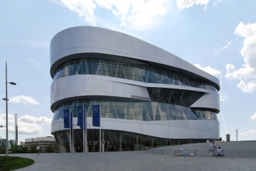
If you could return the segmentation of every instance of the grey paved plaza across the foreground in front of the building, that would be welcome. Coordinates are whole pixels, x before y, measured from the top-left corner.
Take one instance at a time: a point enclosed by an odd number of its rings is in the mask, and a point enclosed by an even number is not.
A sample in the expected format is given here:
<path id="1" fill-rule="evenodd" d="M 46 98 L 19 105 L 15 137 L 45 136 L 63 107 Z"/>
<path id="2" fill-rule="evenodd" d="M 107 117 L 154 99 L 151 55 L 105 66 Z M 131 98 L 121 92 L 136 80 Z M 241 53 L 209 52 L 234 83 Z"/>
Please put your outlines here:
<path id="1" fill-rule="evenodd" d="M 3 156 L 3 155 L 1 155 Z M 33 159 L 21 170 L 255 170 L 255 157 L 175 157 L 147 151 L 10 154 Z"/>

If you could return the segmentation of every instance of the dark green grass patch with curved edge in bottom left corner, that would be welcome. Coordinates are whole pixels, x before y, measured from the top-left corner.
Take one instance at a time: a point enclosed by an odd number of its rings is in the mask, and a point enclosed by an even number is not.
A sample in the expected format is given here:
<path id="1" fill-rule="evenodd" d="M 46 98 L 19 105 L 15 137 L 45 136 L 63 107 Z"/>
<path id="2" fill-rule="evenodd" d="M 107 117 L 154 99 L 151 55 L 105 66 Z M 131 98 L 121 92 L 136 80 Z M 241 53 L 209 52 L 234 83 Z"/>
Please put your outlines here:
<path id="1" fill-rule="evenodd" d="M 23 168 L 34 163 L 34 160 L 22 157 L 0 156 L 0 171 Z"/>

